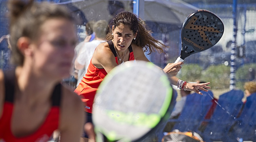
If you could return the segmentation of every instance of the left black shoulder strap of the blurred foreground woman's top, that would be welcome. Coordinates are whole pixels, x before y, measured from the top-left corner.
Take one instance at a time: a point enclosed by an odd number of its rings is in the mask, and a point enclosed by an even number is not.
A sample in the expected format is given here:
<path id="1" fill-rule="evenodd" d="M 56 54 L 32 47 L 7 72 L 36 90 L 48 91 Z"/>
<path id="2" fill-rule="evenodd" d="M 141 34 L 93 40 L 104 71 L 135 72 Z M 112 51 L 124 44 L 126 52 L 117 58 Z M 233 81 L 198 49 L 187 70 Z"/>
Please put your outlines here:
<path id="1" fill-rule="evenodd" d="M 5 101 L 13 103 L 15 90 L 15 69 L 4 71 Z"/>

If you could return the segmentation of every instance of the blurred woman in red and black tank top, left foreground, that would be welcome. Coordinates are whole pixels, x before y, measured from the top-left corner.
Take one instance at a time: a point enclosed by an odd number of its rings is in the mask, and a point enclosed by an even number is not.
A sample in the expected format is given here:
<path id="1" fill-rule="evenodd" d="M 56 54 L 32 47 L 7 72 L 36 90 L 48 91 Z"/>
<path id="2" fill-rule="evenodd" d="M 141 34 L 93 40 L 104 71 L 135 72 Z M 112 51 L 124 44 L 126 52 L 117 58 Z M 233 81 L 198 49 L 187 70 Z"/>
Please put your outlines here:
<path id="1" fill-rule="evenodd" d="M 10 0 L 14 70 L 0 70 L 0 141 L 79 142 L 84 124 L 80 98 L 60 84 L 69 76 L 77 42 L 75 20 L 64 7 Z"/>

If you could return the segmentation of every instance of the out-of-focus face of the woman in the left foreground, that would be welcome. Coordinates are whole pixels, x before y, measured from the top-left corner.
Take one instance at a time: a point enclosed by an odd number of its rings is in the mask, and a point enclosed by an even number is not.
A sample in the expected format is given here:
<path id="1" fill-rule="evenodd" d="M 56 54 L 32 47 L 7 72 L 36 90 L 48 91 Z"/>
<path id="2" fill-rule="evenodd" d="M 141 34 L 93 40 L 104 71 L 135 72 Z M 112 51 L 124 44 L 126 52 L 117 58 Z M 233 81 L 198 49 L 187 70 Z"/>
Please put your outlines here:
<path id="1" fill-rule="evenodd" d="M 40 29 L 39 41 L 33 48 L 36 69 L 47 77 L 68 77 L 77 43 L 74 23 L 53 18 L 46 20 Z"/>

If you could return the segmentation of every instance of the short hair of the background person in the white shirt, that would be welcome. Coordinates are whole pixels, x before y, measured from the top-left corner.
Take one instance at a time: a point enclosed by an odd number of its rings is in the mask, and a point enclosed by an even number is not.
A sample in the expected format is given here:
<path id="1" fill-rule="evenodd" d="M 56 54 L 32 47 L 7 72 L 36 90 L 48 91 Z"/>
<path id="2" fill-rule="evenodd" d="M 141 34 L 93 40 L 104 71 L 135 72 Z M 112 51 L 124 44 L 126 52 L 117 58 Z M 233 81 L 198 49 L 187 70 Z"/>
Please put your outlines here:
<path id="1" fill-rule="evenodd" d="M 93 32 L 100 39 L 106 39 L 106 31 L 108 28 L 108 22 L 106 20 L 99 20 L 93 25 Z"/>

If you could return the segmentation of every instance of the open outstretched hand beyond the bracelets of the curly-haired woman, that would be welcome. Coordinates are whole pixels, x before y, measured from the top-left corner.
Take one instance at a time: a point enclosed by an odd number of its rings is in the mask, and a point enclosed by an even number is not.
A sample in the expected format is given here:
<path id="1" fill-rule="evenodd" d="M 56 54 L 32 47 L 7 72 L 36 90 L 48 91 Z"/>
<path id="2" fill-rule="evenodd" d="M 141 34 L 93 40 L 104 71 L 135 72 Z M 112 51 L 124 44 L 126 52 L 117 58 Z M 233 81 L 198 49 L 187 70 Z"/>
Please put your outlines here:
<path id="1" fill-rule="evenodd" d="M 210 84 L 210 82 L 207 83 L 187 83 L 185 86 L 185 90 L 194 91 L 197 94 L 203 95 L 199 90 L 203 90 L 208 92 L 207 89 L 210 89 L 210 86 L 206 86 Z"/>

